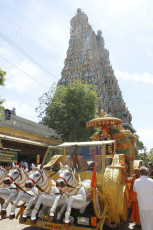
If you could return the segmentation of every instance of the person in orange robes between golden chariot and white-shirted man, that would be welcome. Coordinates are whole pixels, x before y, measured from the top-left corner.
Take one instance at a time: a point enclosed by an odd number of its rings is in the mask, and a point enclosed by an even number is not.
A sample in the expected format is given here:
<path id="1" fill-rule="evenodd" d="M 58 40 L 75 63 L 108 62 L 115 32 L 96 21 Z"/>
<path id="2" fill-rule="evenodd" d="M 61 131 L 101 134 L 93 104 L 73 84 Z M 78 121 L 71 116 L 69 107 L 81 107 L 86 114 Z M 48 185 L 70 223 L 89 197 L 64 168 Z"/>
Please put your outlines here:
<path id="1" fill-rule="evenodd" d="M 140 226 L 140 215 L 139 215 L 139 207 L 137 200 L 137 193 L 133 191 L 133 184 L 136 179 L 140 178 L 139 169 L 134 169 L 134 175 L 131 179 L 128 179 L 128 183 L 131 183 L 130 186 L 130 200 L 132 201 L 132 215 L 131 221 L 135 222 L 137 226 Z"/>

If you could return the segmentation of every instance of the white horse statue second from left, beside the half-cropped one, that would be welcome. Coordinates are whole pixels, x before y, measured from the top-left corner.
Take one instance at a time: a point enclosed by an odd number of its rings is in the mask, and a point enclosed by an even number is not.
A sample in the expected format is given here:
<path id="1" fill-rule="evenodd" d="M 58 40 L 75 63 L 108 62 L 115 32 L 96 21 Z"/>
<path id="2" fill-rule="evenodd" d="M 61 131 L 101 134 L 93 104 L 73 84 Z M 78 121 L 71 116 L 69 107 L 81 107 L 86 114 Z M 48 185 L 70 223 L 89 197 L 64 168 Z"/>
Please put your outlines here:
<path id="1" fill-rule="evenodd" d="M 37 197 L 38 197 L 38 189 L 33 187 L 32 189 L 25 188 L 25 182 L 28 179 L 27 172 L 23 169 L 22 163 L 20 165 L 15 166 L 10 172 L 6 175 L 4 179 L 4 183 L 7 185 L 12 184 L 13 182 L 16 184 L 16 186 L 19 188 L 19 193 L 17 195 L 16 200 L 14 201 L 9 219 L 15 218 L 15 209 L 17 208 L 17 205 L 19 201 L 23 201 L 27 203 L 27 207 L 25 209 L 25 212 L 28 214 L 28 211 L 30 210 L 31 206 L 36 203 Z"/>

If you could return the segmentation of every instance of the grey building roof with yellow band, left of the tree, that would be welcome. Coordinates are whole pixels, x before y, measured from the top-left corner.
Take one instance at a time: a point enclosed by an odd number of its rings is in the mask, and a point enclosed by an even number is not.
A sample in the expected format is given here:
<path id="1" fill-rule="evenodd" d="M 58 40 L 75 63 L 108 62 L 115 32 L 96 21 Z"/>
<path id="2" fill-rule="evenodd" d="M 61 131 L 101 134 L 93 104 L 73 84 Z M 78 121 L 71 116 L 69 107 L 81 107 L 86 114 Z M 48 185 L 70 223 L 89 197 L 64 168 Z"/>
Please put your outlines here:
<path id="1" fill-rule="evenodd" d="M 0 117 L 0 139 L 44 147 L 61 143 L 53 129 L 14 113 L 6 119 L 5 112 Z"/>

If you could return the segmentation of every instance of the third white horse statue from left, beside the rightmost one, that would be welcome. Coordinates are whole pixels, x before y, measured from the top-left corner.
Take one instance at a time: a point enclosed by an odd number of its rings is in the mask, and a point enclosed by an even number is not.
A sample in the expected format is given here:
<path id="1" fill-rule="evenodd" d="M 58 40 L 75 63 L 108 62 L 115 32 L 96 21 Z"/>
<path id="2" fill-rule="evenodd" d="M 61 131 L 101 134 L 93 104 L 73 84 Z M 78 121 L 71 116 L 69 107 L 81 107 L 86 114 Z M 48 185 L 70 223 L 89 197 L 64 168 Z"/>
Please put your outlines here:
<path id="1" fill-rule="evenodd" d="M 29 175 L 25 186 L 27 188 L 37 186 L 39 189 L 39 198 L 31 214 L 31 223 L 35 224 L 37 221 L 36 215 L 39 212 L 40 205 L 42 204 L 47 207 L 52 207 L 56 196 L 59 194 L 59 190 L 56 187 L 55 181 L 51 180 L 46 171 L 43 169 L 43 165 L 39 165 L 33 169 L 33 172 Z M 58 214 L 58 218 L 60 218 L 61 215 L 62 211 Z"/>

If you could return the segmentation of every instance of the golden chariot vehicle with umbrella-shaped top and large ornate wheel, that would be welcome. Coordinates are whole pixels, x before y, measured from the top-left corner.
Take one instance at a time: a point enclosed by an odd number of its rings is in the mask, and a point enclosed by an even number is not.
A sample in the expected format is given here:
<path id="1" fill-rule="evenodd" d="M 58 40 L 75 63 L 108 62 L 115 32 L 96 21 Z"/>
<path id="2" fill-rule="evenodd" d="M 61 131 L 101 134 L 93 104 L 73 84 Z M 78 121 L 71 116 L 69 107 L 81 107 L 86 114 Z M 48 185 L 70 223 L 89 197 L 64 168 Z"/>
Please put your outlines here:
<path id="1" fill-rule="evenodd" d="M 56 171 L 60 162 L 66 164 L 70 156 L 75 156 L 78 171 L 76 176 L 82 180 L 93 178 L 96 165 L 96 187 L 91 187 L 93 201 L 84 214 L 72 212 L 73 221 L 70 229 L 103 229 L 116 228 L 127 221 L 130 208 L 130 185 L 127 179 L 132 176 L 134 169 L 142 162 L 135 160 L 135 143 L 137 137 L 125 130 L 122 121 L 101 112 L 100 118 L 86 123 L 87 128 L 100 127 L 89 142 L 65 142 L 48 149 L 43 164 L 48 175 L 57 180 Z M 97 210 L 96 194 L 99 198 L 100 213 Z M 19 218 L 19 223 L 21 218 Z M 30 225 L 30 217 L 24 223 Z M 47 214 L 38 219 L 35 224 L 44 229 L 65 229 L 63 223 L 50 223 Z"/>

